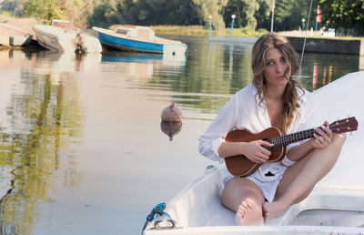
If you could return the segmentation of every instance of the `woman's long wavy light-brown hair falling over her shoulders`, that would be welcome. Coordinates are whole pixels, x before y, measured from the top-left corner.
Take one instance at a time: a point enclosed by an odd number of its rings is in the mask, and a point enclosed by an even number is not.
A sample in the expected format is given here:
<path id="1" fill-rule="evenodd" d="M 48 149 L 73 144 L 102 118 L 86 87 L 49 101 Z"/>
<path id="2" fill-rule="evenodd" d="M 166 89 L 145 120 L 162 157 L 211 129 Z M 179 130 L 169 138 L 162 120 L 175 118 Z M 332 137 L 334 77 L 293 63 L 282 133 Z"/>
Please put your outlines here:
<path id="1" fill-rule="evenodd" d="M 268 33 L 258 39 L 256 44 L 253 46 L 252 51 L 252 68 L 254 74 L 252 83 L 258 90 L 257 97 L 260 100 L 259 104 L 263 102 L 267 94 L 264 67 L 266 66 L 266 52 L 269 48 L 278 48 L 288 62 L 288 70 L 285 72 L 285 77 L 288 80 L 288 83 L 282 96 L 282 130 L 287 132 L 294 115 L 298 112 L 299 104 L 297 87 L 304 93 L 300 83 L 292 78 L 292 75 L 298 71 L 298 55 L 293 47 L 289 45 L 287 38 L 284 36 Z"/>

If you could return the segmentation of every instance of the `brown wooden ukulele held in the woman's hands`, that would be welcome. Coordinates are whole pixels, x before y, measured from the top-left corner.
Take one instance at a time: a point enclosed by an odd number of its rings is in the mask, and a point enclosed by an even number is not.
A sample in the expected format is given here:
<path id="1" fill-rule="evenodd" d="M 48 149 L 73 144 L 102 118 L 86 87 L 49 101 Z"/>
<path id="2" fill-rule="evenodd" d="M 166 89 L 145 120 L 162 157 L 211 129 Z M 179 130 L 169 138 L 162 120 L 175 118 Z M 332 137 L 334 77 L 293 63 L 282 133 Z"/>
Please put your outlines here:
<path id="1" fill-rule="evenodd" d="M 358 121 L 355 117 L 349 117 L 334 121 L 329 124 L 329 129 L 333 133 L 345 133 L 358 129 Z M 258 134 L 253 134 L 247 129 L 236 129 L 227 133 L 225 140 L 227 142 L 250 142 L 263 139 L 273 144 L 273 147 L 263 146 L 271 151 L 268 161 L 279 161 L 286 156 L 286 146 L 298 141 L 313 138 L 314 134 L 318 134 L 315 128 L 298 131 L 288 135 L 281 135 L 278 128 L 267 128 Z M 237 155 L 225 158 L 227 170 L 234 176 L 247 177 L 256 171 L 261 163 L 255 163 L 244 155 Z"/>

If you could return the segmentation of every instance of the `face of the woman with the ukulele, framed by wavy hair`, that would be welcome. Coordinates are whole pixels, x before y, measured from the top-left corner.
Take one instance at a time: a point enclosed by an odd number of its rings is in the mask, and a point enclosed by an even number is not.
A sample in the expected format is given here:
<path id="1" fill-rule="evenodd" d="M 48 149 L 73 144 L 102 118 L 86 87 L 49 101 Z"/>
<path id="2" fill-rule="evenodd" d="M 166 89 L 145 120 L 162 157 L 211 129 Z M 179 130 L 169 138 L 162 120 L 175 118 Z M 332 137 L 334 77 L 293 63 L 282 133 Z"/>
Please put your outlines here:
<path id="1" fill-rule="evenodd" d="M 285 74 L 288 72 L 288 61 L 282 52 L 275 47 L 269 48 L 264 60 L 263 74 L 268 87 L 286 87 L 288 80 Z M 290 74 L 287 74 L 287 77 L 290 77 Z"/>

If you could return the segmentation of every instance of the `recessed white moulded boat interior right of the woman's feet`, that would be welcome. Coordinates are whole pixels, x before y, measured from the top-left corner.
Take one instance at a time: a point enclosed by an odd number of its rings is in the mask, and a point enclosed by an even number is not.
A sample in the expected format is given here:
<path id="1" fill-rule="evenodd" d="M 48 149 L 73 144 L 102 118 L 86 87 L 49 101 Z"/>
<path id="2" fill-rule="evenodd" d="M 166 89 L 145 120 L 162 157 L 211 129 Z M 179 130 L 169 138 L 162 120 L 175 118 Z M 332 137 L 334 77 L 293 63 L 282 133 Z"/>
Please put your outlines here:
<path id="1" fill-rule="evenodd" d="M 364 192 L 315 189 L 266 225 L 338 226 L 364 228 Z"/>

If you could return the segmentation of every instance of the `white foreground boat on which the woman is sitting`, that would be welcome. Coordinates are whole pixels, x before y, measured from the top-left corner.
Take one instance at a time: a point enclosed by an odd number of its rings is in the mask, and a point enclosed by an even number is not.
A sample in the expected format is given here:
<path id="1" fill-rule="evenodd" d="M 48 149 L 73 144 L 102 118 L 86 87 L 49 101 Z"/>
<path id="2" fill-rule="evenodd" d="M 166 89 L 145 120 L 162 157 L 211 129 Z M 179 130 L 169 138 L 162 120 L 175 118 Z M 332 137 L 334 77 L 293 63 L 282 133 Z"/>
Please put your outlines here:
<path id="1" fill-rule="evenodd" d="M 364 234 L 363 87 L 364 72 L 357 72 L 313 93 L 321 108 L 312 127 L 321 125 L 323 119 L 331 122 L 354 116 L 359 128 L 348 134 L 336 166 L 307 199 L 264 226 L 235 226 L 235 214 L 220 202 L 225 167 L 212 166 L 167 203 L 164 211 L 176 223 L 165 215 L 157 216 L 144 234 Z"/>

